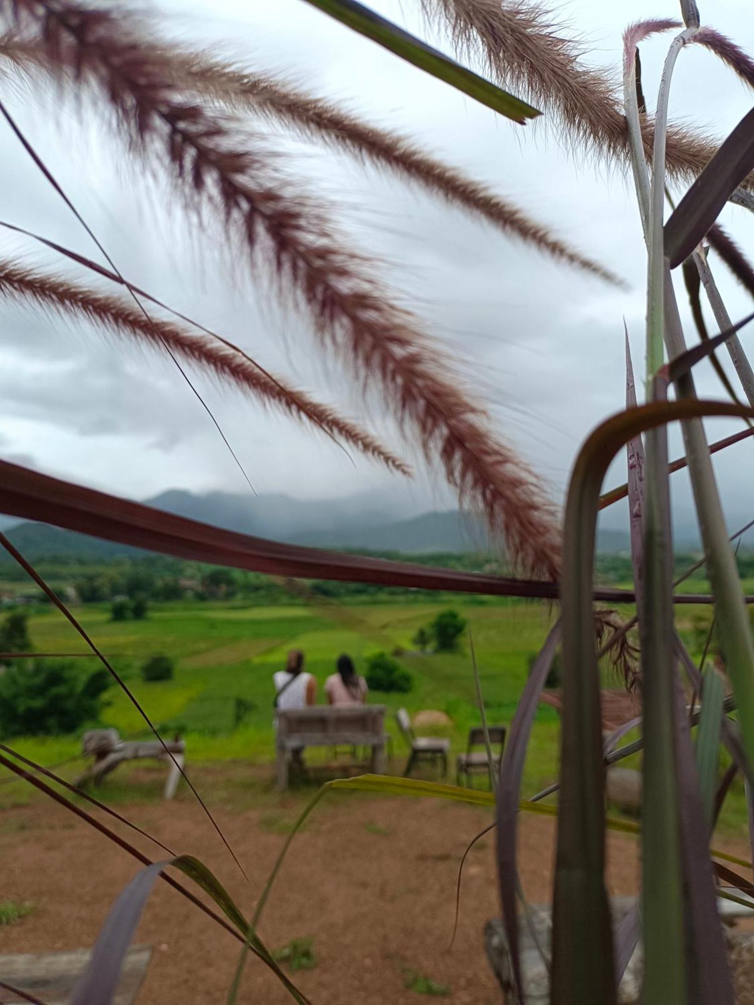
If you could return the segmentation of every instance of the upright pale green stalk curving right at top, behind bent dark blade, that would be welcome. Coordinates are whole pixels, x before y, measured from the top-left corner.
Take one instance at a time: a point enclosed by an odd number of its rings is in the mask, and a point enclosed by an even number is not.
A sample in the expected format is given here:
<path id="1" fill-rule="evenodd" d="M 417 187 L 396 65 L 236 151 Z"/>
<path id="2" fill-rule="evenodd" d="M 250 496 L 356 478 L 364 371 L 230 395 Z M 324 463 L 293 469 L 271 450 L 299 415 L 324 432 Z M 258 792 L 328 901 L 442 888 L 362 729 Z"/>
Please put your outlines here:
<path id="1" fill-rule="evenodd" d="M 671 43 L 657 96 L 652 178 L 647 225 L 646 390 L 649 400 L 666 397 L 655 375 L 665 349 L 665 166 L 670 85 L 682 32 Z M 644 171 L 636 165 L 634 175 Z M 642 199 L 639 198 L 639 206 Z M 668 482 L 668 431 L 646 434 L 643 561 L 644 593 L 639 607 L 643 698 L 643 786 L 641 897 L 644 935 L 642 1000 L 646 1005 L 687 1002 L 684 893 L 679 832 L 680 804 L 674 756 L 673 549 Z"/>

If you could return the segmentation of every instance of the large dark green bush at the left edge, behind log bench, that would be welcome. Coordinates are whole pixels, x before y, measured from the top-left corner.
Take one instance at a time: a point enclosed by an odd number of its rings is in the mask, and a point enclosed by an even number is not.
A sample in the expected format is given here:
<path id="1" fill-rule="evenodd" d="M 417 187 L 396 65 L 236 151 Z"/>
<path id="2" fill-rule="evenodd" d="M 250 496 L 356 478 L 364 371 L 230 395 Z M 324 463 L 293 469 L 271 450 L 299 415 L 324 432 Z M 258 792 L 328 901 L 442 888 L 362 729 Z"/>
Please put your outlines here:
<path id="1" fill-rule="evenodd" d="M 82 676 L 72 662 L 34 660 L 0 676 L 0 735 L 55 736 L 97 721 L 107 670 Z"/>

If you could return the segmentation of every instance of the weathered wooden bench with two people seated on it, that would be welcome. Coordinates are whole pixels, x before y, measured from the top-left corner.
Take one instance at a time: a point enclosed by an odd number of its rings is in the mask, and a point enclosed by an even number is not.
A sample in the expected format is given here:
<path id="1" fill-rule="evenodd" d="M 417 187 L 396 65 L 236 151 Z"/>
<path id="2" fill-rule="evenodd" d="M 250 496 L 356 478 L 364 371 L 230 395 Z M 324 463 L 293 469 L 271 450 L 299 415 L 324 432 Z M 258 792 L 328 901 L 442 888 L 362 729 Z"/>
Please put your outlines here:
<path id="1" fill-rule="evenodd" d="M 288 788 L 289 767 L 295 751 L 304 747 L 367 747 L 368 768 L 385 770 L 385 706 L 311 706 L 277 712 L 275 739 L 277 788 Z"/>

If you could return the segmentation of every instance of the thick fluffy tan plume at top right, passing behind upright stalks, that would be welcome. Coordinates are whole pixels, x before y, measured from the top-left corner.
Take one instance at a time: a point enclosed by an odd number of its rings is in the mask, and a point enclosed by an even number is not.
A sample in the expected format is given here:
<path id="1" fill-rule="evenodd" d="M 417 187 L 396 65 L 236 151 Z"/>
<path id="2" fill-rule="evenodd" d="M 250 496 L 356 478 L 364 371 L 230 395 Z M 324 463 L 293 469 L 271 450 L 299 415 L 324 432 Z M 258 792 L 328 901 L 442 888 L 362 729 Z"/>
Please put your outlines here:
<path id="1" fill-rule="evenodd" d="M 626 163 L 627 131 L 615 81 L 581 62 L 584 46 L 545 7 L 525 0 L 419 2 L 427 15 L 442 15 L 458 49 L 482 54 L 499 82 L 557 116 L 562 141 L 610 163 Z M 642 124 L 642 134 L 650 156 L 650 121 Z M 669 172 L 687 180 L 700 174 L 717 149 L 711 139 L 679 126 L 668 130 L 666 146 Z M 747 187 L 754 187 L 754 176 Z"/>

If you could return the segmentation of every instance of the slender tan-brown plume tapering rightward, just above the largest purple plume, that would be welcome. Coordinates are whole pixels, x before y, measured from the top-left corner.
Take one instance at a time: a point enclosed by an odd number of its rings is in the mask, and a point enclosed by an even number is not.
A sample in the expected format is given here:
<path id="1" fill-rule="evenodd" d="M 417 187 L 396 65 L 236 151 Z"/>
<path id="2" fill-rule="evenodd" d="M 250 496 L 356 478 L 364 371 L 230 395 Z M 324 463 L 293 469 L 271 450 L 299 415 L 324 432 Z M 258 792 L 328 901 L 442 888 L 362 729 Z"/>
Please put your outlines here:
<path id="1" fill-rule="evenodd" d="M 506 234 L 534 244 L 609 282 L 619 279 L 559 240 L 547 227 L 496 195 L 487 186 L 431 157 L 409 138 L 365 122 L 335 102 L 307 93 L 271 74 L 253 73 L 214 61 L 201 52 L 160 53 L 176 83 L 239 113 L 251 113 L 295 129 L 307 138 L 393 171 L 451 205 L 477 213 Z"/>

